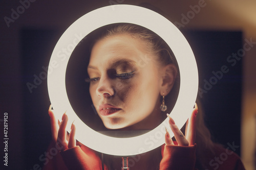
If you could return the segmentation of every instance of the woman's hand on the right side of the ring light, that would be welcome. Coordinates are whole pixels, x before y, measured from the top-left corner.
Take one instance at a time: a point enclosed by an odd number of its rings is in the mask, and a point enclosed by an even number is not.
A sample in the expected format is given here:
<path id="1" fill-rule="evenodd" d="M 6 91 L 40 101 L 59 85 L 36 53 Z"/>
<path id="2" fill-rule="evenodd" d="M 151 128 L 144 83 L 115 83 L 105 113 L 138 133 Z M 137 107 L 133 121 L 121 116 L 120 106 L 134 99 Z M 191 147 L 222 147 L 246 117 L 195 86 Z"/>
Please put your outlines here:
<path id="1" fill-rule="evenodd" d="M 195 144 L 197 113 L 198 113 L 198 107 L 197 107 L 197 104 L 195 104 L 195 109 L 193 110 L 193 112 L 191 113 L 190 117 L 188 118 L 188 120 L 186 122 L 185 135 L 175 125 L 174 119 L 172 117 L 170 117 L 169 114 L 167 114 L 167 116 L 169 117 L 170 129 L 173 131 L 175 139 L 178 142 L 178 145 L 190 146 L 190 145 Z M 167 130 L 166 130 L 166 134 L 165 134 L 165 144 L 166 145 L 174 145 L 172 137 L 170 137 Z"/>

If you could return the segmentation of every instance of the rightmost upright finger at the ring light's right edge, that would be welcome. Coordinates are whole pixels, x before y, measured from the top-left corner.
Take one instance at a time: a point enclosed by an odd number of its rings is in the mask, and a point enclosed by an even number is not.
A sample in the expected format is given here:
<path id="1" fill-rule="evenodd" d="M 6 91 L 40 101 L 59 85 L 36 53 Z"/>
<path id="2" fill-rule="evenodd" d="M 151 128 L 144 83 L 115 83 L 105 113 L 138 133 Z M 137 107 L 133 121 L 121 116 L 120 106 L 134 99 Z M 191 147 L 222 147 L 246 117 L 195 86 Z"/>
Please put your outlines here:
<path id="1" fill-rule="evenodd" d="M 195 104 L 195 109 L 191 113 L 188 118 L 188 122 L 186 124 L 186 139 L 189 145 L 194 145 L 196 141 L 196 120 L 197 120 L 198 107 Z"/>

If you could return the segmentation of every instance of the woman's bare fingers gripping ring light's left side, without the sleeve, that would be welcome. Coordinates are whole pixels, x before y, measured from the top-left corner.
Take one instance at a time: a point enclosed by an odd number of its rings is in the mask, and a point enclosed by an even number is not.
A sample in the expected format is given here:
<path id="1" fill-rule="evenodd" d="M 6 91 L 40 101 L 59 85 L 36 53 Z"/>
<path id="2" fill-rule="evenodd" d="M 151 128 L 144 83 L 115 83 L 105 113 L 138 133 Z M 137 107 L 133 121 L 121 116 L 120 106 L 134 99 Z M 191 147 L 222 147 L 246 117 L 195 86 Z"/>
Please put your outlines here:
<path id="1" fill-rule="evenodd" d="M 58 119 L 54 115 L 54 110 L 51 109 L 52 106 L 49 107 L 48 113 L 51 119 L 51 131 L 52 131 L 52 139 L 54 142 L 58 143 L 61 150 L 70 149 L 76 146 L 75 139 L 75 130 L 76 127 L 72 123 L 70 134 L 67 134 L 66 127 L 68 124 L 68 116 L 66 112 L 62 115 L 62 120 L 59 123 Z"/>

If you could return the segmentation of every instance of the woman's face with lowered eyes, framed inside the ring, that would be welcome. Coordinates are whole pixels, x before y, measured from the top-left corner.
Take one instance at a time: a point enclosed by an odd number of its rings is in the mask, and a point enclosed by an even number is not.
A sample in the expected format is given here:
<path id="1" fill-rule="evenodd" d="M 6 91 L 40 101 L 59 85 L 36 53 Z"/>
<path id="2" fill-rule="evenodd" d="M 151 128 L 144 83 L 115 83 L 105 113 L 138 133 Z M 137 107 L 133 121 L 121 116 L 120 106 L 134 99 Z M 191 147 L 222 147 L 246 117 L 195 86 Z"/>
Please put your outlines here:
<path id="1" fill-rule="evenodd" d="M 152 122 L 159 123 L 162 82 L 156 57 L 142 40 L 125 34 L 103 38 L 93 46 L 90 94 L 106 128 L 147 129 Z"/>

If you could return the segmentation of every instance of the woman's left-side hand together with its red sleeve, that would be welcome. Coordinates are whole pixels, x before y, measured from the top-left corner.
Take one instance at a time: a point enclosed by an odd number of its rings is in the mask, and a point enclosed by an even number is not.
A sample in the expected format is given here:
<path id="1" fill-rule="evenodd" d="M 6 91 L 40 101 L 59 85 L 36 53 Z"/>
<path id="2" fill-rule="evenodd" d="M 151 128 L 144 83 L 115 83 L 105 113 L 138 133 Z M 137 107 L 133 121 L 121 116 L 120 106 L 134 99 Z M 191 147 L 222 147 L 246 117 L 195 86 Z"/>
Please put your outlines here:
<path id="1" fill-rule="evenodd" d="M 67 114 L 64 113 L 61 122 L 58 122 L 51 108 L 52 106 L 48 112 L 51 117 L 52 138 L 55 147 L 58 147 L 56 149 L 63 152 L 56 155 L 56 159 L 52 159 L 52 164 L 49 163 L 45 169 L 101 169 L 101 159 L 96 152 L 79 142 L 76 143 L 74 124 L 71 126 L 70 134 L 67 134 Z M 108 168 L 104 165 L 104 169 Z"/>

